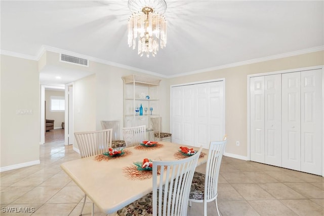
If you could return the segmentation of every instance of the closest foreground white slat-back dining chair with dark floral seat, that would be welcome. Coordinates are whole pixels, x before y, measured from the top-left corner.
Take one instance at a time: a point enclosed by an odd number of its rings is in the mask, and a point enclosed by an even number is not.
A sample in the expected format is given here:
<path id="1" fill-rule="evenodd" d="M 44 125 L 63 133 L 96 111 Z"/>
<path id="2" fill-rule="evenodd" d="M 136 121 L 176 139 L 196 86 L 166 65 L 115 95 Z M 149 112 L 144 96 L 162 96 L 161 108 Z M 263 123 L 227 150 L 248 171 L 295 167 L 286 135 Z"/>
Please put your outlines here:
<path id="1" fill-rule="evenodd" d="M 185 159 L 153 161 L 152 192 L 118 210 L 117 214 L 187 215 L 191 181 L 201 149 Z"/>

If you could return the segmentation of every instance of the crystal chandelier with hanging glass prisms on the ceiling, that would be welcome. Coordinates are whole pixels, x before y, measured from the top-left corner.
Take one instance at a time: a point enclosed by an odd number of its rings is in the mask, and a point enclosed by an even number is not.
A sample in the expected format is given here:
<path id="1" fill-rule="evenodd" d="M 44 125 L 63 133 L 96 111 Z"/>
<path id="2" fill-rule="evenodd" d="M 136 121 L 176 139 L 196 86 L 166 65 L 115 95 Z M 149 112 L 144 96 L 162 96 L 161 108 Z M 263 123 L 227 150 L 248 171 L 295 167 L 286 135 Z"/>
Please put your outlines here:
<path id="1" fill-rule="evenodd" d="M 128 45 L 136 48 L 138 54 L 150 53 L 155 56 L 160 46 L 167 43 L 167 21 L 163 14 L 167 10 L 164 0 L 129 0 L 128 7 L 133 13 L 128 20 Z"/>

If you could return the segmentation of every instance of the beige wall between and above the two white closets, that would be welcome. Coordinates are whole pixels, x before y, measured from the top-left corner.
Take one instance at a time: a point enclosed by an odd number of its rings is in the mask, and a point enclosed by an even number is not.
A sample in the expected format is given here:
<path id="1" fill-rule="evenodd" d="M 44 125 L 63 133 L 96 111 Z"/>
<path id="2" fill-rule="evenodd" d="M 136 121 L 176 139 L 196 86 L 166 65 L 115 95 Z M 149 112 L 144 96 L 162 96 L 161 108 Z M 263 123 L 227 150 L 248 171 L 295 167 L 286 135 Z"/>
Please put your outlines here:
<path id="1" fill-rule="evenodd" d="M 247 76 L 324 64 L 323 51 L 172 78 L 170 86 L 225 78 L 226 153 L 247 156 Z M 235 141 L 240 146 L 235 145 Z"/>

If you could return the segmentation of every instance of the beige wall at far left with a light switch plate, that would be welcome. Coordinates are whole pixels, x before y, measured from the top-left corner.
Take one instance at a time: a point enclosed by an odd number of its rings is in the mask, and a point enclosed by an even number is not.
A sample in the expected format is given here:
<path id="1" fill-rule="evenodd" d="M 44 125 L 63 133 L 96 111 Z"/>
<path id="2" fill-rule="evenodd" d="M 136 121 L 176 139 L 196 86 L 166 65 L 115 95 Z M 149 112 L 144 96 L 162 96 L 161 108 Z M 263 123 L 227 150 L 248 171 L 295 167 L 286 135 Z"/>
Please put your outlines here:
<path id="1" fill-rule="evenodd" d="M 17 115 L 32 110 L 32 115 Z M 37 61 L 1 55 L 1 170 L 39 162 Z"/>

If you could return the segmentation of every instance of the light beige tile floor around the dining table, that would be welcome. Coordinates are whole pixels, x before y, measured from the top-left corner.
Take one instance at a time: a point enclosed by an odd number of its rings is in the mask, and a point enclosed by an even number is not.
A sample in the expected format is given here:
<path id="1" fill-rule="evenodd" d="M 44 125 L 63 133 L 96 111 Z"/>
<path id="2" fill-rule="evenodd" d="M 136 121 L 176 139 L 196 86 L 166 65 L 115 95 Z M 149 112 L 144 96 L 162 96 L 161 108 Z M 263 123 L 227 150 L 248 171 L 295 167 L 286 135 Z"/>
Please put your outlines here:
<path id="1" fill-rule="evenodd" d="M 0 173 L 1 215 L 78 215 L 84 193 L 60 164 L 80 156 L 63 145 L 62 131 L 47 132 L 41 164 Z M 324 178 L 317 175 L 223 157 L 218 190 L 222 215 L 324 215 Z M 6 207 L 35 212 L 9 213 Z M 83 215 L 91 215 L 90 200 Z M 95 215 L 105 214 L 95 207 Z M 203 215 L 203 204 L 192 203 L 188 215 Z M 215 202 L 208 203 L 208 215 L 217 215 Z"/>

